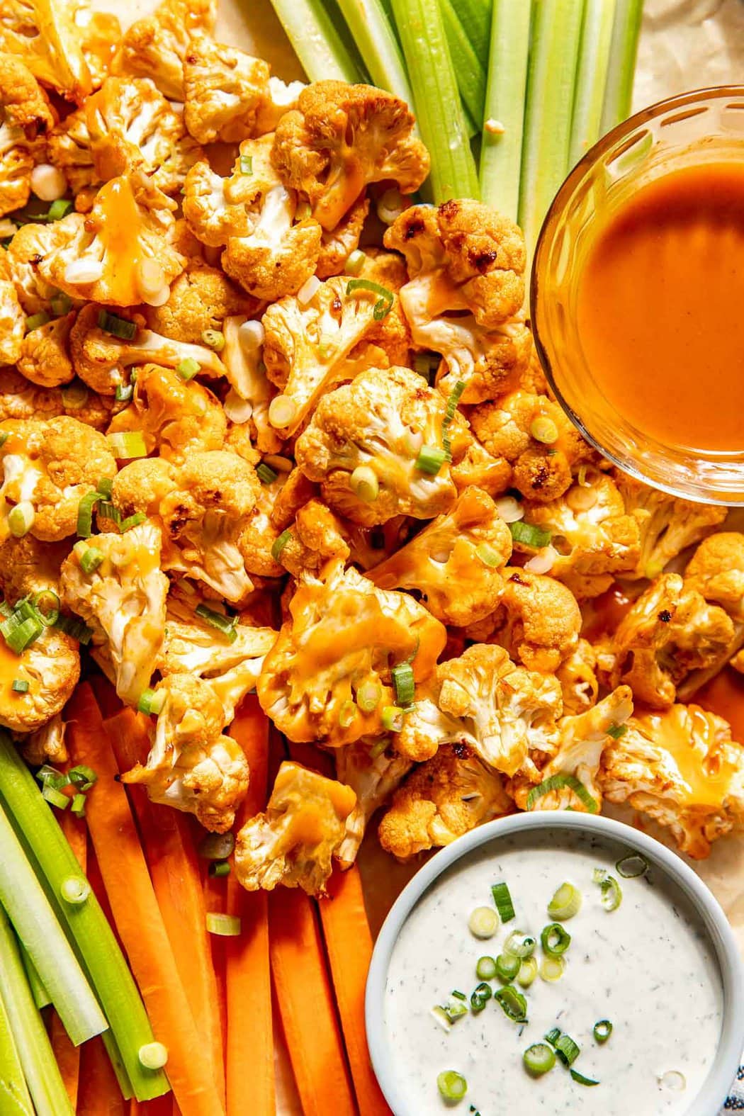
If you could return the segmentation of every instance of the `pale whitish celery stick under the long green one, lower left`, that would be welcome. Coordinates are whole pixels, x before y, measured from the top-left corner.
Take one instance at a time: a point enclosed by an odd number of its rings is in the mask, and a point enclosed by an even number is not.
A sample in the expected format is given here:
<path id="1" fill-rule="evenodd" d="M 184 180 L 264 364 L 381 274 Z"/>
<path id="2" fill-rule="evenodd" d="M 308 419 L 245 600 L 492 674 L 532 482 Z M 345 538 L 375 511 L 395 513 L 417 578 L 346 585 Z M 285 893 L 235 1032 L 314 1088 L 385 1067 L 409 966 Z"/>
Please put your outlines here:
<path id="1" fill-rule="evenodd" d="M 0 903 L 78 1046 L 108 1026 L 4 810 L 0 809 Z"/>

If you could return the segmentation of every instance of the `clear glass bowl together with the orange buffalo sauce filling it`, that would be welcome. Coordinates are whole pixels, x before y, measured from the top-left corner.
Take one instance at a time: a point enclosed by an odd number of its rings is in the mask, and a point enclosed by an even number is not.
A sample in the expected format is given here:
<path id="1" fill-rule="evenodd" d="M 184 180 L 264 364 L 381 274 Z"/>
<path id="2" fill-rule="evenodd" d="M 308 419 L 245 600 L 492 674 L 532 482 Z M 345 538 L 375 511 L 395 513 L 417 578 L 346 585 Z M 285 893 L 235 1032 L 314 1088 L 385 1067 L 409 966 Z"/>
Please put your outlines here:
<path id="1" fill-rule="evenodd" d="M 744 86 L 654 105 L 586 155 L 542 227 L 531 318 L 601 453 L 744 504 Z"/>

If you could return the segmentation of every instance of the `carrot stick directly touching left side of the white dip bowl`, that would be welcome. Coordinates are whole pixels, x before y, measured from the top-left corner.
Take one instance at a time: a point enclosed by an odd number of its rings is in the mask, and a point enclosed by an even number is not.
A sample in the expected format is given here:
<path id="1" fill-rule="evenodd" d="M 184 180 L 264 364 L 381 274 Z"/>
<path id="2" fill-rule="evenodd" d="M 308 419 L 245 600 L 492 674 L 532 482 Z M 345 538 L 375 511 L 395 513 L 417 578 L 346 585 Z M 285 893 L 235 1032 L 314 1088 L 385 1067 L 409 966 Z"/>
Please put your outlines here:
<path id="1" fill-rule="evenodd" d="M 365 985 L 373 941 L 356 865 L 348 872 L 334 873 L 328 881 L 328 898 L 320 899 L 318 906 L 359 1114 L 387 1116 L 390 1109 L 367 1049 Z"/>

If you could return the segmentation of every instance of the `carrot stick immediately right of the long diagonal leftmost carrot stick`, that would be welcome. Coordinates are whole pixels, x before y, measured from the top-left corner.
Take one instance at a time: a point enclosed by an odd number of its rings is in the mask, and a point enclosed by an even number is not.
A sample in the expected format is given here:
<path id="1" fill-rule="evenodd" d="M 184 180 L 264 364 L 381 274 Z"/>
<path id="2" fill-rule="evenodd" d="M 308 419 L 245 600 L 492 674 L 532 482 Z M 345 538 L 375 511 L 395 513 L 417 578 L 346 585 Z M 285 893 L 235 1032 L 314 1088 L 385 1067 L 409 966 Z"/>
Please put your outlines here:
<path id="1" fill-rule="evenodd" d="M 119 771 L 144 762 L 149 737 L 144 719 L 131 709 L 104 722 Z M 218 983 L 212 966 L 206 906 L 189 819 L 176 810 L 156 806 L 144 787 L 129 788 L 157 905 L 173 956 L 187 974 L 184 991 L 199 1031 L 210 1051 L 214 1084 L 224 1095 L 224 1057 L 218 1008 Z"/>

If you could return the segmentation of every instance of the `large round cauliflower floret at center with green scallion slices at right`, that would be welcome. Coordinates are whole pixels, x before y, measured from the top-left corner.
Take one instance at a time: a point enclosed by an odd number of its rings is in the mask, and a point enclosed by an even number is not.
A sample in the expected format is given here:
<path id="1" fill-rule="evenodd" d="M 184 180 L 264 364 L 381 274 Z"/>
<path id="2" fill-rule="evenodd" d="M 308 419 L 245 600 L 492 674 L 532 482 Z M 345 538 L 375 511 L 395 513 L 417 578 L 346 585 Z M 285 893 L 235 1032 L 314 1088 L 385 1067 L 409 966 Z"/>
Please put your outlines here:
<path id="1" fill-rule="evenodd" d="M 328 506 L 352 522 L 371 527 L 398 514 L 431 519 L 450 511 L 457 497 L 446 460 L 435 475 L 417 465 L 423 446 L 442 449 L 444 417 L 444 397 L 417 373 L 373 368 L 320 400 L 297 441 L 297 463 L 320 483 Z M 450 436 L 457 458 L 470 441 L 457 414 Z M 371 488 L 367 500 L 352 488 L 359 470 Z"/>

